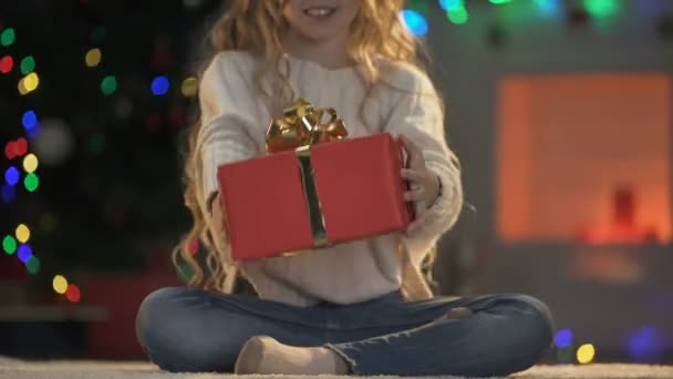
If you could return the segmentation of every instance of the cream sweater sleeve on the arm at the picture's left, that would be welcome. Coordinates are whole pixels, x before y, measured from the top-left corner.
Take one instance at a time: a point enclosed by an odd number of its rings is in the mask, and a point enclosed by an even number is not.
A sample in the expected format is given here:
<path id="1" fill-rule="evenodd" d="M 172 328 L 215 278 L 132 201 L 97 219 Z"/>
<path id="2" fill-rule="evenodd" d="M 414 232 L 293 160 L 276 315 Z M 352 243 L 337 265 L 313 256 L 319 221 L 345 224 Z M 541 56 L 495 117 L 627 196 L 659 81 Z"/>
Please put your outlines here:
<path id="1" fill-rule="evenodd" d="M 199 85 L 201 127 L 197 139 L 203 162 L 204 198 L 217 192 L 218 166 L 259 153 L 255 120 L 261 115 L 250 84 L 250 68 L 235 52 L 217 54 Z"/>

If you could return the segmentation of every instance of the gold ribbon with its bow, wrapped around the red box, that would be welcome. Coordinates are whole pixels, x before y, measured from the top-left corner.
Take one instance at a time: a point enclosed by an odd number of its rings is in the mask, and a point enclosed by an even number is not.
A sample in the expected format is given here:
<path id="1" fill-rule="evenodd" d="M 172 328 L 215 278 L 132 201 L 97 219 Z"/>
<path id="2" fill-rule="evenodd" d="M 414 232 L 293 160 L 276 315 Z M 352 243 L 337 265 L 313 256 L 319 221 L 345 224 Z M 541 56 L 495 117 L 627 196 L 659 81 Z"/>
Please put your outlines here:
<path id="1" fill-rule="evenodd" d="M 328 120 L 323 122 L 325 115 Z M 294 150 L 309 211 L 313 247 L 325 247 L 329 245 L 329 240 L 315 187 L 310 150 L 314 144 L 342 141 L 346 136 L 345 125 L 333 109 L 315 107 L 301 98 L 283 111 L 282 119 L 272 120 L 267 131 L 267 151 L 269 153 Z M 293 254 L 296 253 L 286 255 Z"/>

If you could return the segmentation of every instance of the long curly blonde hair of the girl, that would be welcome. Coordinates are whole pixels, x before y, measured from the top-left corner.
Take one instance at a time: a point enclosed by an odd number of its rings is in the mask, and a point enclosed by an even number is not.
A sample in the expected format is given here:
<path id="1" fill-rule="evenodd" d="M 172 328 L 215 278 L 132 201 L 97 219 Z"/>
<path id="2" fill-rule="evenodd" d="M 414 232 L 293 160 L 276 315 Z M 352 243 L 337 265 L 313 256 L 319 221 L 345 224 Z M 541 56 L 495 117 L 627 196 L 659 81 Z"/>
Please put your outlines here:
<path id="1" fill-rule="evenodd" d="M 282 17 L 284 1 L 287 0 L 232 0 L 209 33 L 216 53 L 226 50 L 245 50 L 259 57 L 261 64 L 255 71 L 252 79 L 260 95 L 270 98 L 273 96 L 262 85 L 262 78 L 269 72 L 276 71 L 277 78 L 284 84 L 282 90 L 291 92 L 287 75 L 280 70 L 284 57 L 281 37 L 288 28 Z M 403 7 L 404 0 L 362 0 L 360 12 L 350 28 L 348 54 L 358 63 L 367 93 L 381 80 L 381 72 L 376 65 L 379 59 L 407 63 L 421 69 L 416 51 L 418 41 L 406 30 L 400 18 Z M 195 151 L 200 126 L 197 122 L 189 130 L 188 155 L 184 171 L 185 204 L 194 217 L 194 227 L 176 248 L 173 258 L 176 265 L 182 259 L 191 268 L 189 285 L 225 291 L 225 284 L 231 280 L 227 276 L 234 265 L 227 249 L 222 248 L 222 244 L 211 235 L 204 214 L 203 202 L 206 199 L 200 198 L 198 180 L 201 163 L 199 154 Z M 208 252 L 209 275 L 205 275 L 193 255 L 195 240 L 200 242 Z M 434 259 L 433 250 L 424 264 L 428 273 L 432 272 Z M 432 281 L 432 278 L 428 279 Z"/>

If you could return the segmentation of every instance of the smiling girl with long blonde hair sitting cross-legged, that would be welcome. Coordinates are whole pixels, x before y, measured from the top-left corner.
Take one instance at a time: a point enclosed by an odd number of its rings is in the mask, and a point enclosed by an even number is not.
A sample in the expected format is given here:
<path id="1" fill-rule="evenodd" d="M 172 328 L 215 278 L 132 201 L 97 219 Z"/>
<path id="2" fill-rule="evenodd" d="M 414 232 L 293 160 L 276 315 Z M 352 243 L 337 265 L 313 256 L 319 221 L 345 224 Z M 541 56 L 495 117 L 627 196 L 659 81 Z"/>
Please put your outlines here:
<path id="1" fill-rule="evenodd" d="M 547 350 L 552 327 L 540 301 L 432 297 L 421 276 L 432 263 L 427 252 L 458 217 L 462 188 L 442 104 L 418 69 L 402 7 L 403 0 L 232 0 L 217 22 L 218 53 L 203 73 L 201 120 L 186 163 L 195 225 L 180 252 L 196 270 L 193 287 L 201 288 L 157 290 L 137 317 L 138 340 L 161 368 L 505 376 Z M 416 221 L 404 234 L 231 262 L 217 167 L 263 154 L 269 121 L 298 96 L 334 107 L 351 136 L 398 135 Z M 188 253 L 195 238 L 211 252 L 208 278 Z M 230 295 L 239 274 L 259 298 Z"/>

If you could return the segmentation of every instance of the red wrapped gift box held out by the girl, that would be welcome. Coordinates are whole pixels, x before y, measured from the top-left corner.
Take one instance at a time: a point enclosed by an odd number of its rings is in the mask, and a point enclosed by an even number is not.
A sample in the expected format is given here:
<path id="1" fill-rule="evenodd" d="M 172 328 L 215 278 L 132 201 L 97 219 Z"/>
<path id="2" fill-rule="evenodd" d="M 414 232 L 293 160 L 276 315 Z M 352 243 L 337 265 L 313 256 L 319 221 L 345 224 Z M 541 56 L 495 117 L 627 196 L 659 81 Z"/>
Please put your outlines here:
<path id="1" fill-rule="evenodd" d="M 232 258 L 324 246 L 317 235 L 317 218 L 329 245 L 406 229 L 411 215 L 403 198 L 402 167 L 401 146 L 390 134 L 319 143 L 220 166 Z M 309 199 L 312 188 L 319 204 Z"/>

